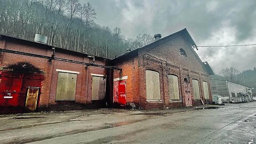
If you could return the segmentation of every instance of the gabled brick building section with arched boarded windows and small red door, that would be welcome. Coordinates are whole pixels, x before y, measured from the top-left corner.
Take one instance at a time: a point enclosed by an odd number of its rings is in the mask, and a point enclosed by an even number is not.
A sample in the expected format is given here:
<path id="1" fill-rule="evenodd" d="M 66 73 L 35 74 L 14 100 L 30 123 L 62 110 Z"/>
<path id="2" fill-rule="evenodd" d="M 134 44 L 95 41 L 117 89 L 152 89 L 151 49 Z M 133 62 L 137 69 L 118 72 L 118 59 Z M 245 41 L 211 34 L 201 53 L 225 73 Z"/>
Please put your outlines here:
<path id="1" fill-rule="evenodd" d="M 114 72 L 114 102 L 150 109 L 212 100 L 209 75 L 213 71 L 196 54 L 197 46 L 187 29 L 155 38 L 110 61 L 122 68 Z"/>

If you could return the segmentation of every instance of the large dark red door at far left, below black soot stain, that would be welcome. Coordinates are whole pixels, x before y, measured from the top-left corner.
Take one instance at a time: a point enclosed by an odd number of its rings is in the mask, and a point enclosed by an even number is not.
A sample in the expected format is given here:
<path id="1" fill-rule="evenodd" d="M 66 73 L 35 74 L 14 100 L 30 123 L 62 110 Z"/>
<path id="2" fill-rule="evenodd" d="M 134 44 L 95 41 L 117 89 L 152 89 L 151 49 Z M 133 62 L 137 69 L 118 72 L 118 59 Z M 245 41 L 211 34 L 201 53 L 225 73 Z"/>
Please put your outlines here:
<path id="1" fill-rule="evenodd" d="M 0 71 L 0 107 L 24 107 L 28 86 L 41 87 L 42 74 Z"/>

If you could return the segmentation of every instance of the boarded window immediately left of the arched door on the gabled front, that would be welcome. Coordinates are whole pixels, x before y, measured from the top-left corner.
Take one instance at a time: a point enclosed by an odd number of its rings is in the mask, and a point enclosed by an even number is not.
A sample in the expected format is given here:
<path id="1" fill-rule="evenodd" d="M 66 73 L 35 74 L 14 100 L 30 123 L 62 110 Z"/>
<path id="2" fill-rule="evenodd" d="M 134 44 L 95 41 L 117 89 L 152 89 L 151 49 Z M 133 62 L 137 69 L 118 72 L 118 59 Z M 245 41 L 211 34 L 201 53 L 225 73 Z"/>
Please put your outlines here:
<path id="1" fill-rule="evenodd" d="M 171 100 L 179 100 L 179 84 L 178 84 L 178 76 L 168 75 L 169 82 L 169 97 Z"/>

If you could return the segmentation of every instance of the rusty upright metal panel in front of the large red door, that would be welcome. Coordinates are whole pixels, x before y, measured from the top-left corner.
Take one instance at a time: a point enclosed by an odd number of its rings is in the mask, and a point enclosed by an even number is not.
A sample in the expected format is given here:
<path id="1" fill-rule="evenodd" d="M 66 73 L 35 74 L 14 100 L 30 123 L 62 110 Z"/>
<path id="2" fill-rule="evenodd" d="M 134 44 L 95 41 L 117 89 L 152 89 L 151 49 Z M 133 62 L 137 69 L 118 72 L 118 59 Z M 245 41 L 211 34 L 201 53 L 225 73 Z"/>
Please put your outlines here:
<path id="1" fill-rule="evenodd" d="M 37 108 L 40 87 L 28 87 L 25 107 L 35 111 Z"/>

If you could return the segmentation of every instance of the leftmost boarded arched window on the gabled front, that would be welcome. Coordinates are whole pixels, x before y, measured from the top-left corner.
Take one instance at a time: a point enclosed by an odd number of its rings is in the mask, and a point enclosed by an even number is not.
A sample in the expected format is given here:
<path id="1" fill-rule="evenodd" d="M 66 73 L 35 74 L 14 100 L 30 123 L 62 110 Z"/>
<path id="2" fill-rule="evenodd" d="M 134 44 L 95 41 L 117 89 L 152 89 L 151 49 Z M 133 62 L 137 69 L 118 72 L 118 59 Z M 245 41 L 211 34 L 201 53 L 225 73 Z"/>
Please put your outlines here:
<path id="1" fill-rule="evenodd" d="M 147 100 L 161 100 L 159 73 L 146 70 Z"/>

